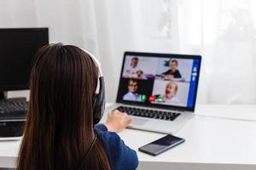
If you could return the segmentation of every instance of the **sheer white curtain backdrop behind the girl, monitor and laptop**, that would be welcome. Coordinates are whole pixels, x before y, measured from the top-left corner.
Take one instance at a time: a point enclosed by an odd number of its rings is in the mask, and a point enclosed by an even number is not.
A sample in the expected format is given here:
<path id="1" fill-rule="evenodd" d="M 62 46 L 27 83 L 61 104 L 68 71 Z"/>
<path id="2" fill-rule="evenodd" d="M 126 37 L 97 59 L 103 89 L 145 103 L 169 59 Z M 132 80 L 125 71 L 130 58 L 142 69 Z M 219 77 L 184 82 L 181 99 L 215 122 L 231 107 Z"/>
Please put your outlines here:
<path id="1" fill-rule="evenodd" d="M 48 26 L 50 42 L 90 49 L 108 101 L 131 50 L 201 54 L 199 103 L 256 103 L 255 0 L 1 0 L 0 26 Z"/>

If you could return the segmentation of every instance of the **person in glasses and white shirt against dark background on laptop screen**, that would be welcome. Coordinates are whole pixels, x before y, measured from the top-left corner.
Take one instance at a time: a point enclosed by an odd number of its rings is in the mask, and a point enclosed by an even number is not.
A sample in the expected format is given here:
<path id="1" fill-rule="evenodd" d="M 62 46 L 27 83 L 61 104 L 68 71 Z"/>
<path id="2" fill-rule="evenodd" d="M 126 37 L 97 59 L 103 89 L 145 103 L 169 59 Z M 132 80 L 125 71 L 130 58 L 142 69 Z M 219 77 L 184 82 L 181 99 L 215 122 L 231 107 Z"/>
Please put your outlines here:
<path id="1" fill-rule="evenodd" d="M 124 100 L 130 101 L 141 101 L 141 95 L 137 94 L 137 81 L 131 79 L 128 82 L 128 90 L 129 92 L 124 95 Z"/>

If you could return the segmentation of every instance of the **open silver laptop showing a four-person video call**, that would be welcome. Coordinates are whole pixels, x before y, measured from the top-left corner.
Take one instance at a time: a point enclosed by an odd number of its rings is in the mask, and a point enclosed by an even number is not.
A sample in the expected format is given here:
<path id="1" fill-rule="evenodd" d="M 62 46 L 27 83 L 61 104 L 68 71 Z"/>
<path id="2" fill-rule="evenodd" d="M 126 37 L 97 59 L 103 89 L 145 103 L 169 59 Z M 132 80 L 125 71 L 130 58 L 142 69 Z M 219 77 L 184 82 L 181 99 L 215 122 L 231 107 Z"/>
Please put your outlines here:
<path id="1" fill-rule="evenodd" d="M 176 133 L 195 111 L 200 67 L 199 55 L 125 52 L 108 111 L 126 112 L 131 128 Z"/>

